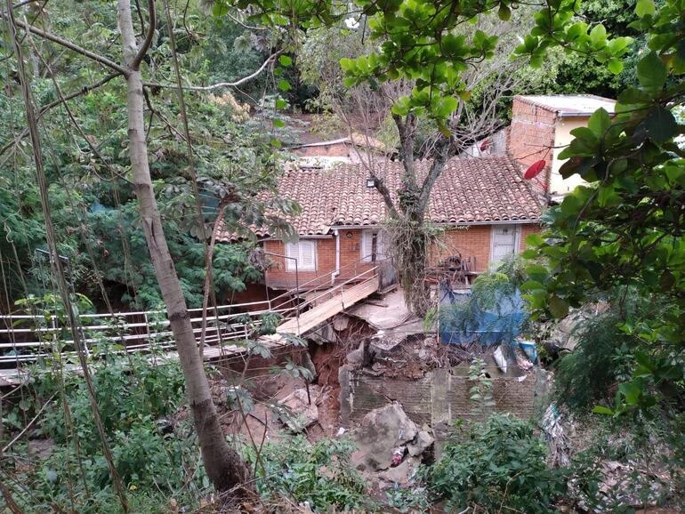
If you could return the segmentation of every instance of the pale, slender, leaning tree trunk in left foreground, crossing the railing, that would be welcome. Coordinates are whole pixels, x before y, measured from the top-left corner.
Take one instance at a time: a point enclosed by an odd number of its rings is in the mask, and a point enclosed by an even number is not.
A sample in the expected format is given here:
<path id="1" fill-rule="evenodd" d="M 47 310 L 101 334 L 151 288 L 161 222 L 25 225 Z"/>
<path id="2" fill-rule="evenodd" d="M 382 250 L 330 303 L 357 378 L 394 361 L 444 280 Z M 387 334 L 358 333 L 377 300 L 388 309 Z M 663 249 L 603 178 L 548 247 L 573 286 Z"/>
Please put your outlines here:
<path id="1" fill-rule="evenodd" d="M 159 289 L 165 301 L 173 338 L 176 341 L 181 368 L 185 377 L 186 396 L 193 413 L 202 460 L 214 487 L 225 492 L 238 487 L 237 492 L 251 490 L 251 473 L 238 454 L 224 438 L 219 417 L 197 352 L 195 334 L 181 290 L 173 260 L 166 245 L 162 219 L 157 209 L 149 174 L 148 144 L 143 123 L 143 92 L 141 71 L 136 64 L 139 52 L 133 32 L 130 0 L 118 0 L 119 29 L 124 50 L 127 76 L 127 111 L 129 151 L 133 172 L 133 188 L 141 209 L 142 227 L 148 243 L 149 255 L 155 268 Z M 152 30 L 154 28 L 149 28 Z"/>

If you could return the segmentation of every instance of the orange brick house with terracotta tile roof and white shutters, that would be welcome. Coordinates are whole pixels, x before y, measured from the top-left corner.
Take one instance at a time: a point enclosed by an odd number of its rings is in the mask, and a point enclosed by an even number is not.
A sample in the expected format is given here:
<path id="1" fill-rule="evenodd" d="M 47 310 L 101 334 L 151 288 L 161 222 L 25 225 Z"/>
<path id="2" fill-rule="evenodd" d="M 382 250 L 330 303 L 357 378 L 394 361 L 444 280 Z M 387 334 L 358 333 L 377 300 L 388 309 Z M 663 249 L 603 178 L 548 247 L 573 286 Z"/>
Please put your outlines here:
<path id="1" fill-rule="evenodd" d="M 419 175 L 427 173 L 430 164 L 416 162 Z M 402 164 L 385 161 L 375 173 L 396 195 Z M 320 288 L 356 277 L 381 260 L 387 213 L 383 198 L 367 179 L 367 168 L 359 164 L 285 173 L 278 196 L 302 206 L 302 213 L 288 220 L 299 241 L 284 243 L 257 230 L 275 264 L 266 273 L 267 286 Z M 427 219 L 446 229 L 441 244 L 431 249 L 431 260 L 437 264 L 458 256 L 473 271 L 488 269 L 491 262 L 525 247 L 528 234 L 539 230 L 541 213 L 539 197 L 511 157 L 453 158 L 430 198 Z M 228 242 L 230 234 L 217 238 Z"/>

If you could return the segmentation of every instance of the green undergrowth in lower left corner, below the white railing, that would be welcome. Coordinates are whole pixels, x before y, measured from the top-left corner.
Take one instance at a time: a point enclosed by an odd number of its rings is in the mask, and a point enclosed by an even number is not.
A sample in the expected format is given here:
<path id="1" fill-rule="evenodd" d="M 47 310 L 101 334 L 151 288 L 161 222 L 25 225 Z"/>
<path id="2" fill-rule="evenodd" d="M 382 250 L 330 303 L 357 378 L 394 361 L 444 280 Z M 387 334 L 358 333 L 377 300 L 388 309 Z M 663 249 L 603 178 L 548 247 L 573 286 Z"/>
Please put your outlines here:
<path id="1" fill-rule="evenodd" d="M 174 495 L 179 502 L 196 502 L 208 486 L 189 423 L 173 418 L 184 400 L 180 366 L 162 355 L 156 362 L 150 365 L 149 357 L 134 354 L 93 363 L 117 471 L 132 507 L 150 512 Z M 22 483 L 14 488 L 14 499 L 27 513 L 119 512 L 85 383 L 75 373 L 62 374 L 65 364 L 48 361 L 47 373 L 4 414 L 2 445 L 42 409 L 30 438 L 20 438 L 4 454 L 4 471 L 12 467 L 13 478 Z"/>

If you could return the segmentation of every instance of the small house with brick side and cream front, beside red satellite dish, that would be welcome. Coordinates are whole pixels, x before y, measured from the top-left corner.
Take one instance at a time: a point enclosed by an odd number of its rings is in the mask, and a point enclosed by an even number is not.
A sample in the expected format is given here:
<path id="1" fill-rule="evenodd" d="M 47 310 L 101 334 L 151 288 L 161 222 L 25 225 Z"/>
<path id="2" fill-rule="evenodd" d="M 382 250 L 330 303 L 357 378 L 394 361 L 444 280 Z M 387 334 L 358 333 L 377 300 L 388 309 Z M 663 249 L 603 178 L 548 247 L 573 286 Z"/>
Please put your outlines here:
<path id="1" fill-rule="evenodd" d="M 515 96 L 508 152 L 524 165 L 544 160 L 546 168 L 540 179 L 546 190 L 552 197 L 566 195 L 584 183 L 577 175 L 564 179 L 559 173 L 564 164 L 559 154 L 573 140 L 571 131 L 587 126 L 599 108 L 613 115 L 615 105 L 616 100 L 592 94 Z"/>

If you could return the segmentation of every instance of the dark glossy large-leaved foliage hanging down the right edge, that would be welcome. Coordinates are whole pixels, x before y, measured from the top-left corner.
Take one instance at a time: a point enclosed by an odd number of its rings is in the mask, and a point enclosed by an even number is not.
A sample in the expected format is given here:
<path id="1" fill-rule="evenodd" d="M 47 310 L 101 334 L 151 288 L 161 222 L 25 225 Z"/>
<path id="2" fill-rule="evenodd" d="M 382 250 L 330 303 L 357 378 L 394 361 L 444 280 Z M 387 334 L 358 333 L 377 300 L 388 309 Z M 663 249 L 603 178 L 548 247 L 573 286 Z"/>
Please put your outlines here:
<path id="1" fill-rule="evenodd" d="M 569 307 L 608 301 L 619 313 L 617 330 L 631 349 L 633 374 L 620 386 L 613 409 L 649 407 L 668 401 L 682 407 L 682 343 L 685 325 L 685 154 L 679 121 L 685 73 L 685 7 L 666 1 L 655 9 L 638 2 L 633 28 L 647 35 L 637 64 L 638 84 L 618 96 L 617 115 L 603 109 L 587 127 L 572 132 L 560 157 L 561 174 L 578 173 L 585 186 L 545 213 L 542 237 L 528 257 L 525 285 L 537 316 L 564 317 Z M 617 293 L 618 292 L 618 293 Z M 637 295 L 657 309 L 634 313 Z"/>

